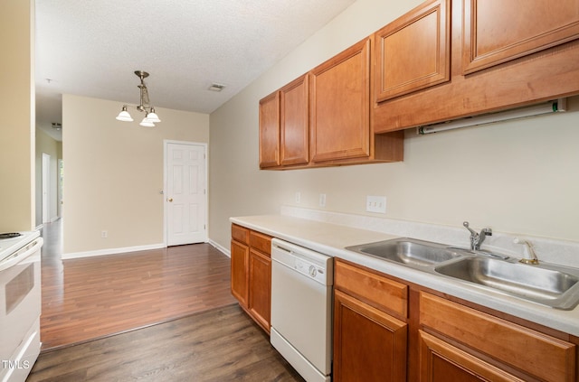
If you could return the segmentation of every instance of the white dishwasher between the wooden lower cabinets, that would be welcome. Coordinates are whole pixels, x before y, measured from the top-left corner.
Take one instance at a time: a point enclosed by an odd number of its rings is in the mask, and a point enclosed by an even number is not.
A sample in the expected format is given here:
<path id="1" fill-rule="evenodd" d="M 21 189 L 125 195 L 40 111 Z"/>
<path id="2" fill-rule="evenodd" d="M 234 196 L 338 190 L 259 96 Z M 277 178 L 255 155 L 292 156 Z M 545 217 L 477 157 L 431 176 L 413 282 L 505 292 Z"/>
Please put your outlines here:
<path id="1" fill-rule="evenodd" d="M 271 345 L 308 382 L 331 380 L 333 260 L 271 240 Z"/>

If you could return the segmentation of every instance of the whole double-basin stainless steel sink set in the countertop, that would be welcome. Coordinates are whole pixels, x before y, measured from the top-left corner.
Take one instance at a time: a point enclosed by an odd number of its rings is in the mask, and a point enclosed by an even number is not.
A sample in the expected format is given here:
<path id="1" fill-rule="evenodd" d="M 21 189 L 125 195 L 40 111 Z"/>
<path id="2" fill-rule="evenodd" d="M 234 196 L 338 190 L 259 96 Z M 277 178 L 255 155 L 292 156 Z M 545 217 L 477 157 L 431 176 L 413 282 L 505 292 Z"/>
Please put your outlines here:
<path id="1" fill-rule="evenodd" d="M 551 308 L 571 310 L 579 303 L 579 269 L 448 247 L 413 238 L 395 238 L 346 249 L 442 277 L 488 288 Z"/>

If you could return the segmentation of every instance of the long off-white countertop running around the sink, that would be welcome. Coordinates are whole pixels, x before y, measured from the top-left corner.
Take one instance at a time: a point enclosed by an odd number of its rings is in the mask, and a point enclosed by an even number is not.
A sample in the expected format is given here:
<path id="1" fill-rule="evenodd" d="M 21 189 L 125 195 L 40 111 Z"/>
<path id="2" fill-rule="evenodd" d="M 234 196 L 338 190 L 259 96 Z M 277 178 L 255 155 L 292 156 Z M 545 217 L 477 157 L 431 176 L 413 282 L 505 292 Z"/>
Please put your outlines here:
<path id="1" fill-rule="evenodd" d="M 361 266 L 367 266 L 383 272 L 386 275 L 393 275 L 411 283 L 421 284 L 472 303 L 478 303 L 558 331 L 565 331 L 579 336 L 579 307 L 572 311 L 553 309 L 502 293 L 495 293 L 487 288 L 480 288 L 475 284 L 461 282 L 441 275 L 428 274 L 407 266 L 397 265 L 345 249 L 350 246 L 399 238 L 400 236 L 284 215 L 235 217 L 231 218 L 230 221 L 246 228 L 258 230 L 272 237 L 307 247 L 327 256 L 343 258 Z"/>

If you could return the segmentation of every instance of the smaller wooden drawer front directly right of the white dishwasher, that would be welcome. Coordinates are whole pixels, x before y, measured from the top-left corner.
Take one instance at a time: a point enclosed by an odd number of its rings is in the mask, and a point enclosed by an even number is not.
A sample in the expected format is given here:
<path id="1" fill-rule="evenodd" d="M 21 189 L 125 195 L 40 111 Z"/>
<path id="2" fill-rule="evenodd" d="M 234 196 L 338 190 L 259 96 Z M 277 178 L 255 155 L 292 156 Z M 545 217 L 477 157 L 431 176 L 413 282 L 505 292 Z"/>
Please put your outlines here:
<path id="1" fill-rule="evenodd" d="M 383 275 L 336 261 L 334 284 L 365 303 L 408 317 L 408 286 Z"/>

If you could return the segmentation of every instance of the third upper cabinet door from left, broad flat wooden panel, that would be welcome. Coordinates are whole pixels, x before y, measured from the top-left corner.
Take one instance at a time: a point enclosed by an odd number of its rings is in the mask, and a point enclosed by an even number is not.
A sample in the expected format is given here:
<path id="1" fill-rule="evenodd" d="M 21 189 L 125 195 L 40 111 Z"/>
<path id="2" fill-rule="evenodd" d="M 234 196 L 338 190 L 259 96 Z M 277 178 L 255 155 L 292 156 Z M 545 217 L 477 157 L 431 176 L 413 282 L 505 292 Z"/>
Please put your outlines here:
<path id="1" fill-rule="evenodd" d="M 356 43 L 310 72 L 313 162 L 370 155 L 371 41 Z"/>

